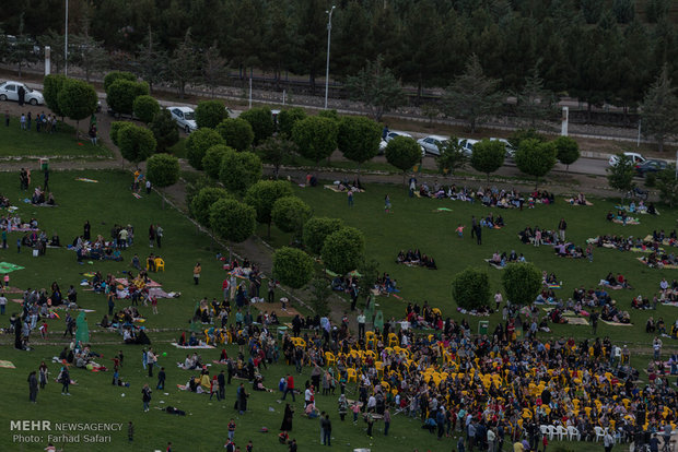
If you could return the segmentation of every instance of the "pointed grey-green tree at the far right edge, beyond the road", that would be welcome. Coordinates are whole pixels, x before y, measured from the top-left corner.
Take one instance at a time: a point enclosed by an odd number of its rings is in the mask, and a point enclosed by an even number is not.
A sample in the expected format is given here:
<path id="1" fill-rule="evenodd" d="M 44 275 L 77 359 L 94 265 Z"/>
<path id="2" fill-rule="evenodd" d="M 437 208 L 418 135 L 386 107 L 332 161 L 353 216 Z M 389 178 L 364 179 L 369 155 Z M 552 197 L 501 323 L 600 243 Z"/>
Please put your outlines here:
<path id="1" fill-rule="evenodd" d="M 676 87 L 671 86 L 666 64 L 645 94 L 641 106 L 641 118 L 643 133 L 654 136 L 657 141 L 657 150 L 663 152 L 664 142 L 678 132 L 678 97 Z"/>

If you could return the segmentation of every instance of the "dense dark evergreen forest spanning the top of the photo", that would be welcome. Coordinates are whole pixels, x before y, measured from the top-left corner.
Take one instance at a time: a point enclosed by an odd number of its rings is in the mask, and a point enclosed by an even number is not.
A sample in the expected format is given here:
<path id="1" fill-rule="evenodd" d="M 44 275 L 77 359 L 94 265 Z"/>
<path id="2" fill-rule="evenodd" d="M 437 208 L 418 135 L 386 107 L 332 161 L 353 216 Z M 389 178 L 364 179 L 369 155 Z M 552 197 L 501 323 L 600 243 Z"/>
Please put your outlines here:
<path id="1" fill-rule="evenodd" d="M 632 106 L 665 62 L 674 78 L 678 71 L 678 34 L 669 4 L 650 0 L 641 16 L 634 0 L 347 0 L 337 4 L 332 17 L 330 71 L 346 80 L 382 55 L 385 67 L 406 84 L 447 86 L 475 51 L 503 90 L 518 91 L 541 60 L 549 90 Z M 151 0 L 142 7 L 132 0 L 72 0 L 70 16 L 78 24 L 72 29 L 91 35 L 117 63 L 164 59 L 166 73 L 173 73 L 183 71 L 173 68 L 182 62 L 170 59 L 182 56 L 195 62 L 211 52 L 209 60 L 220 59 L 242 76 L 260 68 L 279 79 L 289 71 L 315 83 L 325 69 L 328 5 L 326 0 Z M 62 3 L 13 2 L 4 13 L 7 33 L 13 35 L 63 31 Z M 191 51 L 178 51 L 187 29 Z M 192 68 L 200 76 L 219 74 L 207 58 L 199 59 Z"/>

